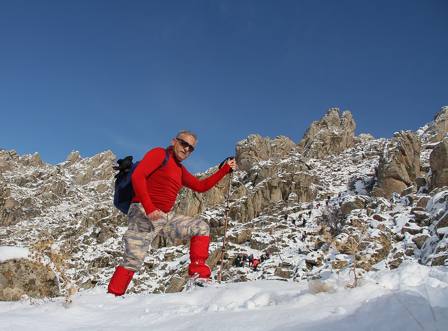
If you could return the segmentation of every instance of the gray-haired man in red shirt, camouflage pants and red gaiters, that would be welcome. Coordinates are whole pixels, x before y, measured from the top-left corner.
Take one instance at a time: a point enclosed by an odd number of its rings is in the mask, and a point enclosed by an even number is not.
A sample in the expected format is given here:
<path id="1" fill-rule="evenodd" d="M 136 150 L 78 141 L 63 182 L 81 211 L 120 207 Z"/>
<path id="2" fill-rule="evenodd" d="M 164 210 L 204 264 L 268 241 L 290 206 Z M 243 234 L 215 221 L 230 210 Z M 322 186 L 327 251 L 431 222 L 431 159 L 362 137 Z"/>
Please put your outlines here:
<path id="1" fill-rule="evenodd" d="M 194 151 L 198 139 L 191 132 L 182 130 L 167 148 L 169 159 L 160 167 L 166 156 L 163 148 L 147 152 L 132 174 L 135 197 L 127 216 L 123 261 L 115 270 L 108 286 L 108 293 L 121 296 L 134 275 L 140 270 L 152 240 L 156 235 L 190 240 L 190 266 L 188 274 L 198 285 L 210 282 L 211 271 L 205 264 L 210 243 L 210 229 L 206 222 L 174 214 L 171 209 L 181 186 L 196 192 L 206 192 L 214 187 L 230 169 L 235 170 L 235 159 L 229 160 L 215 174 L 198 180 L 190 174 L 181 161 Z"/>

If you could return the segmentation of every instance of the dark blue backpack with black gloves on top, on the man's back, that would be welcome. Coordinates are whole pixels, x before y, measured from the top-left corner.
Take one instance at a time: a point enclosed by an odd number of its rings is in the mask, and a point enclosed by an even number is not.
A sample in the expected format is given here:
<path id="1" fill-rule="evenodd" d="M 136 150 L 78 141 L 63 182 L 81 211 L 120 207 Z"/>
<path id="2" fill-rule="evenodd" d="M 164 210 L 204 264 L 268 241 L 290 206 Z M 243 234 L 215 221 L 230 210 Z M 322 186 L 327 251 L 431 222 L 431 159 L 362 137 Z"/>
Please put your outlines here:
<path id="1" fill-rule="evenodd" d="M 167 150 L 165 160 L 162 162 L 159 168 L 165 166 L 168 162 L 168 159 L 169 154 Z M 134 187 L 132 187 L 131 177 L 140 161 L 132 163 L 132 156 L 129 156 L 125 157 L 124 159 L 118 160 L 116 163 L 118 163 L 118 166 L 114 166 L 112 167 L 112 169 L 120 170 L 120 172 L 115 175 L 116 179 L 115 179 L 115 192 L 113 196 L 113 205 L 122 213 L 125 213 L 127 215 L 132 199 L 135 196 Z M 154 171 L 151 174 L 153 174 Z"/>

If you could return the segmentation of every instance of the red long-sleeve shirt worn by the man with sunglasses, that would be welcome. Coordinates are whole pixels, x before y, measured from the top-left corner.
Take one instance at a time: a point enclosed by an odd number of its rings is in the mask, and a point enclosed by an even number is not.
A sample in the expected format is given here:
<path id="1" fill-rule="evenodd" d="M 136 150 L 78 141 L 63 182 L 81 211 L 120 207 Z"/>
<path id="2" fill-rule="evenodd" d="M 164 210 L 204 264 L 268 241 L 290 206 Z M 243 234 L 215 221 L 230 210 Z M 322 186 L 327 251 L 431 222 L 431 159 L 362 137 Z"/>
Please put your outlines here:
<path id="1" fill-rule="evenodd" d="M 230 170 L 230 165 L 226 163 L 215 174 L 199 180 L 173 157 L 171 148 L 168 148 L 168 152 L 167 164 L 159 168 L 165 160 L 165 149 L 151 149 L 132 174 L 132 186 L 135 191 L 132 201 L 140 202 L 146 215 L 157 209 L 168 213 L 174 205 L 182 185 L 203 193 L 214 187 Z"/>

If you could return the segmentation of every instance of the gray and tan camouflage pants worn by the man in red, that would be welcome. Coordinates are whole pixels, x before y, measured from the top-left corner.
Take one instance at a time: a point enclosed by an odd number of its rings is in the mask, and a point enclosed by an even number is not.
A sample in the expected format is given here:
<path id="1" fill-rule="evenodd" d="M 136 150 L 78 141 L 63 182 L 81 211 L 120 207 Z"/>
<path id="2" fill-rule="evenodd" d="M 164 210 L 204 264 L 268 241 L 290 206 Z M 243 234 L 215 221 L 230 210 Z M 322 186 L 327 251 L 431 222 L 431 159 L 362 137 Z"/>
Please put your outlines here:
<path id="1" fill-rule="evenodd" d="M 200 219 L 176 215 L 171 211 L 162 215 L 157 221 L 150 221 L 142 204 L 131 204 L 128 230 L 125 232 L 125 252 L 120 266 L 134 272 L 140 270 L 156 235 L 185 240 L 195 235 L 210 235 L 209 226 Z"/>

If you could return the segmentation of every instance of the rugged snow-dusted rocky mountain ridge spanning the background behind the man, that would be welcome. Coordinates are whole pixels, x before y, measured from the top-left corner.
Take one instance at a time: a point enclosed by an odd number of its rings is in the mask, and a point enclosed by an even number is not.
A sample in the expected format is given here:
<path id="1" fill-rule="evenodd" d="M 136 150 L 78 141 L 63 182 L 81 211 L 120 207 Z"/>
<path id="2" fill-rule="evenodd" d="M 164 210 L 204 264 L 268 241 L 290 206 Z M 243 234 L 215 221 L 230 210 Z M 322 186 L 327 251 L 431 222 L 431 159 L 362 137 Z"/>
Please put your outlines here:
<path id="1" fill-rule="evenodd" d="M 352 114 L 339 115 L 335 108 L 313 122 L 298 144 L 259 135 L 238 142 L 224 278 L 324 279 L 353 266 L 363 272 L 394 268 L 404 259 L 443 265 L 448 258 L 447 109 L 415 133 L 400 131 L 392 139 L 355 137 Z M 50 238 L 73 254 L 66 274 L 78 286 L 106 286 L 121 261 L 126 230 L 125 215 L 112 205 L 115 158 L 111 151 L 84 159 L 73 151 L 52 166 L 37 153 L 19 157 L 0 151 L 0 246 L 29 247 Z M 208 264 L 214 275 L 228 180 L 202 194 L 183 187 L 174 206 L 175 212 L 210 224 L 214 243 Z M 285 214 L 306 224 L 293 226 Z M 339 233 L 330 235 L 332 221 Z M 304 231 L 309 235 L 302 242 Z M 349 240 L 360 248 L 354 255 L 344 248 Z M 188 243 L 157 237 L 151 246 L 129 291 L 181 290 Z M 231 266 L 239 253 L 257 257 L 267 250 L 273 255 L 259 271 Z M 0 290 L 20 287 L 2 277 Z"/>

